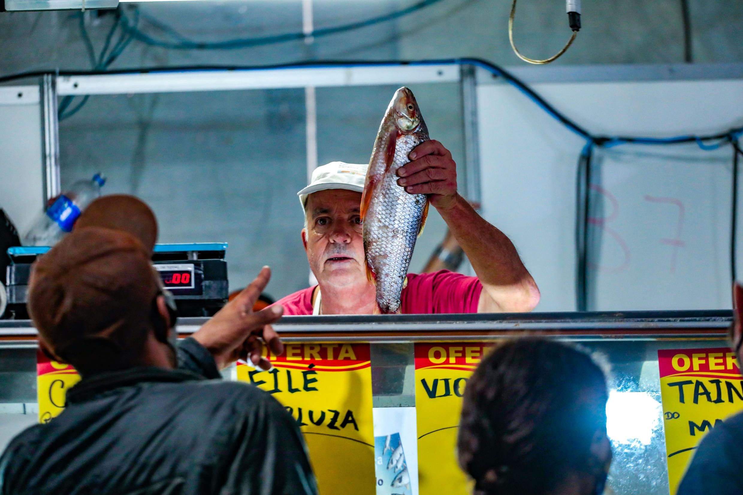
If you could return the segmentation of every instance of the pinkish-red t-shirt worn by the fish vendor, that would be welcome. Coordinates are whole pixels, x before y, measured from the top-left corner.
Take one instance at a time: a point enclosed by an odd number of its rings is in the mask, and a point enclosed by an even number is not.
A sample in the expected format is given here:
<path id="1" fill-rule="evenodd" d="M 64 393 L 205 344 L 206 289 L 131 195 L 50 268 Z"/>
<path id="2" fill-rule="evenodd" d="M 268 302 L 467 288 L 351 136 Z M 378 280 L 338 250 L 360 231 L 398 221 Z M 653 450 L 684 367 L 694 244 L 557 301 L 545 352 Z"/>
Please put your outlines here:
<path id="1" fill-rule="evenodd" d="M 294 292 L 277 301 L 285 315 L 311 315 L 312 292 L 315 286 Z M 408 274 L 408 286 L 403 289 L 403 314 L 474 313 L 480 301 L 482 284 L 477 277 L 441 270 L 434 273 Z"/>

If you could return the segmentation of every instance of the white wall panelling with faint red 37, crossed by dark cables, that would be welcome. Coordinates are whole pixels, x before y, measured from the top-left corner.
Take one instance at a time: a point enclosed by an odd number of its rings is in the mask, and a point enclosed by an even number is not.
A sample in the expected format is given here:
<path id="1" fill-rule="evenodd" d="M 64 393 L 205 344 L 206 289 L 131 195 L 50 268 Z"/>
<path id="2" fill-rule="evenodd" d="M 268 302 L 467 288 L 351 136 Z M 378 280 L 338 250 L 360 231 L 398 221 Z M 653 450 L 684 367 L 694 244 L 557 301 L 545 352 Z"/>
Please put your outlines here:
<path id="1" fill-rule="evenodd" d="M 533 88 L 594 134 L 743 125 L 741 79 Z M 575 309 L 575 172 L 585 141 L 510 85 L 478 87 L 478 118 L 485 217 L 511 237 L 539 284 L 538 310 Z M 595 158 L 592 200 L 603 213 L 593 221 L 600 242 L 589 309 L 730 307 L 730 148 L 622 145 Z"/>

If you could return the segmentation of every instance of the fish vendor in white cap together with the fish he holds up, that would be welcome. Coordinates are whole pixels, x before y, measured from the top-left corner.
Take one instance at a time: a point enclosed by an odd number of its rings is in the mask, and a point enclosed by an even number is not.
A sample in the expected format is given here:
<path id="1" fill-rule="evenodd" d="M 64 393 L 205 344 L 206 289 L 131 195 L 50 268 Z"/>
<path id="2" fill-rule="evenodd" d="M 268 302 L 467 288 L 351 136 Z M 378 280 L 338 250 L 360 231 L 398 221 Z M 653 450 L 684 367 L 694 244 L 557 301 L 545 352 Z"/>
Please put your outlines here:
<path id="1" fill-rule="evenodd" d="M 527 312 L 539 302 L 513 243 L 458 194 L 452 154 L 429 140 L 408 88 L 395 92 L 369 165 L 322 165 L 298 195 L 302 243 L 318 283 L 278 301 L 285 315 Z M 429 205 L 476 277 L 408 273 Z"/>

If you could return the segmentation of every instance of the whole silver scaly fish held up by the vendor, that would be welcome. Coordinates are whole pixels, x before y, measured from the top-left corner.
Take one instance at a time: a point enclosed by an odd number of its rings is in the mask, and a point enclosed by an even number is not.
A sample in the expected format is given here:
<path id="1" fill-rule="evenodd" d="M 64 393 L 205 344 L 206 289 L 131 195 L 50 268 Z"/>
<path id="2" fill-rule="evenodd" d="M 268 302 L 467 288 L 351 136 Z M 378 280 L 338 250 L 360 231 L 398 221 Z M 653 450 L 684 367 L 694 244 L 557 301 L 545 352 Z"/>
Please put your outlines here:
<path id="1" fill-rule="evenodd" d="M 426 194 L 408 194 L 398 186 L 397 171 L 409 163 L 410 151 L 427 140 L 415 96 L 408 88 L 398 89 L 377 132 L 361 199 L 366 270 L 377 285 L 375 312 L 400 312 L 400 294 L 429 201 Z"/>

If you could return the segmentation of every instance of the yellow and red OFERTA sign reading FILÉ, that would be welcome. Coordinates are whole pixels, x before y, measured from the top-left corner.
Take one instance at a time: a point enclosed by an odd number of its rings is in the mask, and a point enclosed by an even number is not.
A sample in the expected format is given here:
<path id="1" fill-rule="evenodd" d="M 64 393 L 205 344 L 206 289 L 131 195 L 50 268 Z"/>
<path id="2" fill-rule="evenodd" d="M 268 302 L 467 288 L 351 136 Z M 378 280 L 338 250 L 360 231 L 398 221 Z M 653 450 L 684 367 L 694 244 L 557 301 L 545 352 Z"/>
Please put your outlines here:
<path id="1" fill-rule="evenodd" d="M 374 495 L 369 344 L 287 344 L 273 369 L 238 364 L 237 377 L 266 390 L 305 435 L 320 495 Z"/>

